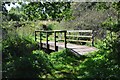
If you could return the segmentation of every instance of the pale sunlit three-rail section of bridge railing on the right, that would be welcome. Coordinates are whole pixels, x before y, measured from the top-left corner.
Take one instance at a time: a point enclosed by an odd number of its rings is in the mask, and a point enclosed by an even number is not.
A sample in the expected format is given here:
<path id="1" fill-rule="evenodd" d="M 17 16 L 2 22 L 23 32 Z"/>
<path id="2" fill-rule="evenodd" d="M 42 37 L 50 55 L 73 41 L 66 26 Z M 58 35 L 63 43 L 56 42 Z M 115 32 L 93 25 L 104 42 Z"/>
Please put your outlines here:
<path id="1" fill-rule="evenodd" d="M 68 42 L 89 42 L 94 46 L 94 30 L 67 30 Z"/>

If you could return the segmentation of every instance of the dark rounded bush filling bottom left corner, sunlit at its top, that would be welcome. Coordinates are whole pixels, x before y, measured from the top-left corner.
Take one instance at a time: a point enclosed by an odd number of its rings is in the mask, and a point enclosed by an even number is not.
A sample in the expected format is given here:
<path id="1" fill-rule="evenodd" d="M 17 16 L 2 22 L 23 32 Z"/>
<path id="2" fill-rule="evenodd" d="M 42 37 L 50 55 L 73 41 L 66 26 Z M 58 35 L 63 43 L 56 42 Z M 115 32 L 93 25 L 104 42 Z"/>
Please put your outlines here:
<path id="1" fill-rule="evenodd" d="M 13 57 L 3 64 L 3 78 L 41 78 L 50 74 L 51 67 L 47 54 L 36 50 L 23 57 Z"/>

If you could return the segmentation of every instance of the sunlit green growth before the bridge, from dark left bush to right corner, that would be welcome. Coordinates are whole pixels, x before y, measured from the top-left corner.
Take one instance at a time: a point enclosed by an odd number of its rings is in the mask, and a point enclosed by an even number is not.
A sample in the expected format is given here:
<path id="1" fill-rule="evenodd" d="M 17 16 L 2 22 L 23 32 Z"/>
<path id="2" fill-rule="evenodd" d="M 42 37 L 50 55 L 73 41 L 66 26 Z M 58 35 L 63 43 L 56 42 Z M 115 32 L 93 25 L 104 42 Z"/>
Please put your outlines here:
<path id="1" fill-rule="evenodd" d="M 66 50 L 51 53 L 50 61 L 54 66 L 56 78 L 71 79 L 119 79 L 119 64 L 109 58 L 108 50 L 99 50 L 86 57 L 73 57 Z"/>

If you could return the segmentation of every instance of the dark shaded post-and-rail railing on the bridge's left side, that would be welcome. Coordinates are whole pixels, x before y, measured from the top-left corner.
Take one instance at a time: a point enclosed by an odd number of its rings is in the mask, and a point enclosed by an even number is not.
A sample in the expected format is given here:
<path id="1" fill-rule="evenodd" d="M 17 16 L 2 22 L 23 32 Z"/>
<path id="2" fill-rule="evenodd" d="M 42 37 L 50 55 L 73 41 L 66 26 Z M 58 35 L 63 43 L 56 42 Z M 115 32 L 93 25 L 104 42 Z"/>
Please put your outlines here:
<path id="1" fill-rule="evenodd" d="M 66 33 L 67 31 L 66 30 L 54 30 L 54 31 L 43 31 L 43 30 L 36 30 L 35 31 L 35 41 L 37 41 L 37 39 L 39 39 L 39 44 L 40 44 L 40 48 L 42 48 L 42 45 L 43 45 L 43 37 L 46 38 L 46 48 L 49 49 L 49 35 L 54 35 L 52 36 L 52 38 L 54 38 L 54 47 L 55 47 L 55 51 L 58 51 L 58 46 L 57 46 L 57 38 L 59 37 L 59 33 L 63 33 L 63 37 L 64 37 L 64 48 L 66 48 L 66 44 L 67 44 L 67 41 L 66 41 Z M 39 35 L 39 38 L 37 37 Z"/>

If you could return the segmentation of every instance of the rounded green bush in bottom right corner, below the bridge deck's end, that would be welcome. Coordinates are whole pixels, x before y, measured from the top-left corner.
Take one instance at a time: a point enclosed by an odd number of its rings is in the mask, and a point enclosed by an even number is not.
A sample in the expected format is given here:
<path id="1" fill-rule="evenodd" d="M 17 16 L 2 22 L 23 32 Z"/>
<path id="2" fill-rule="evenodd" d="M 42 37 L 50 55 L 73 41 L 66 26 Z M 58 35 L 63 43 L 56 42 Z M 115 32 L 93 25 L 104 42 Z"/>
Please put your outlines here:
<path id="1" fill-rule="evenodd" d="M 119 67 L 114 60 L 110 60 L 108 51 L 99 50 L 79 65 L 78 76 L 92 79 L 119 79 Z"/>

